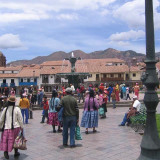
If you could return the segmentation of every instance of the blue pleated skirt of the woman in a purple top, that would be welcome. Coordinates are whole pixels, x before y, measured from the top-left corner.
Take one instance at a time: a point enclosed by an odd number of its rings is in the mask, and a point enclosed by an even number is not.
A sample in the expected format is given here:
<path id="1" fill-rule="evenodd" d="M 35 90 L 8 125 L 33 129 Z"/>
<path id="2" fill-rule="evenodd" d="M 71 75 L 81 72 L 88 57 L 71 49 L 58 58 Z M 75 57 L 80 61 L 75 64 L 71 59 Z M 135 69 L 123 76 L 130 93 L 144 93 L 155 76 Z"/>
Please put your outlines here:
<path id="1" fill-rule="evenodd" d="M 98 111 L 84 111 L 81 121 L 81 127 L 98 127 Z"/>

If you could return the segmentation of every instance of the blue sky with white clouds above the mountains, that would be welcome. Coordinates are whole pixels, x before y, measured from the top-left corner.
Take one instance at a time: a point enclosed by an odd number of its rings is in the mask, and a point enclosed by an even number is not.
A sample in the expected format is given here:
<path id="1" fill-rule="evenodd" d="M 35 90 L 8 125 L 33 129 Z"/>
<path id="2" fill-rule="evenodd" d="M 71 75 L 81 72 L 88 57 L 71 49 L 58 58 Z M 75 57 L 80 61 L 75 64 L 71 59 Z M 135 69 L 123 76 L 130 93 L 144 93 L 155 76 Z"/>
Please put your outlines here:
<path id="1" fill-rule="evenodd" d="M 153 5 L 160 52 L 160 0 Z M 145 54 L 145 0 L 0 0 L 0 51 L 7 63 L 107 48 Z"/>

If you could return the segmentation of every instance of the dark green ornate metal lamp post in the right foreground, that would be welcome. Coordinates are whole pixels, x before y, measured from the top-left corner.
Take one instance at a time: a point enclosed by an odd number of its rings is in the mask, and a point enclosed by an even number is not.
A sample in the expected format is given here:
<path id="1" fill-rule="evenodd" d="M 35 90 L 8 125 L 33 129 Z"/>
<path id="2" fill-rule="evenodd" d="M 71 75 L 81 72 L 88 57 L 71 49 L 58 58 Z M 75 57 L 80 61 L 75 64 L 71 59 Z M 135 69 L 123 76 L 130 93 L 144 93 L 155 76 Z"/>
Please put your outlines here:
<path id="1" fill-rule="evenodd" d="M 146 73 L 142 76 L 143 84 L 147 87 L 144 103 L 147 107 L 147 120 L 144 136 L 141 142 L 141 154 L 138 160 L 159 160 L 160 139 L 156 125 L 156 107 L 158 96 L 155 87 L 159 81 L 156 74 L 154 23 L 153 23 L 153 0 L 145 0 L 146 17 Z"/>

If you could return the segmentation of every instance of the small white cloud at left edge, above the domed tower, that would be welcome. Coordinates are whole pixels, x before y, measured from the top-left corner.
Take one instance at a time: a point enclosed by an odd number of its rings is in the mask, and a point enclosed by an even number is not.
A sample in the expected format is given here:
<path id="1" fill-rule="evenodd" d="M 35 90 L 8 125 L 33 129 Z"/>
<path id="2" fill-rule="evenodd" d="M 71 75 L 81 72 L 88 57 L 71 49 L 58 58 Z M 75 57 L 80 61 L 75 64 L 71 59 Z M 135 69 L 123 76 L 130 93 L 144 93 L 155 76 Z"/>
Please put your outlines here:
<path id="1" fill-rule="evenodd" d="M 23 47 L 23 44 L 19 38 L 19 35 L 4 34 L 0 36 L 1 49 L 20 48 L 20 47 Z"/>

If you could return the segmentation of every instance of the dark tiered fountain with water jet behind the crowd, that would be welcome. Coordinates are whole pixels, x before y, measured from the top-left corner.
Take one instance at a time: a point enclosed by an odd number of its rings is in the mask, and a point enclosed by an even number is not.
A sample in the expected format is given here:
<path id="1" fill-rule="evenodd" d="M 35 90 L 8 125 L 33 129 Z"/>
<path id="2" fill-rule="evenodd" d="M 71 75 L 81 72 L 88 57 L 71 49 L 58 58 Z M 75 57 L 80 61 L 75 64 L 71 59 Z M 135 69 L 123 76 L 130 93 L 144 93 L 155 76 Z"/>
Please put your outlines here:
<path id="1" fill-rule="evenodd" d="M 68 84 L 73 84 L 74 87 L 77 88 L 79 83 L 83 83 L 84 78 L 86 78 L 90 74 L 87 72 L 76 72 L 75 63 L 77 62 L 77 60 L 81 60 L 81 58 L 75 57 L 73 52 L 72 52 L 70 58 L 65 58 L 65 60 L 68 60 L 71 63 L 71 72 L 58 73 L 56 75 L 61 78 L 68 79 Z"/>

